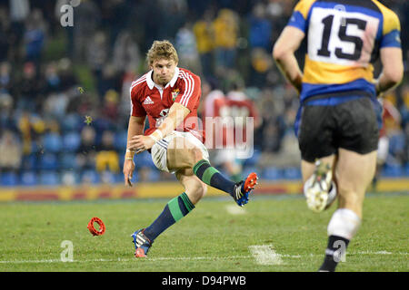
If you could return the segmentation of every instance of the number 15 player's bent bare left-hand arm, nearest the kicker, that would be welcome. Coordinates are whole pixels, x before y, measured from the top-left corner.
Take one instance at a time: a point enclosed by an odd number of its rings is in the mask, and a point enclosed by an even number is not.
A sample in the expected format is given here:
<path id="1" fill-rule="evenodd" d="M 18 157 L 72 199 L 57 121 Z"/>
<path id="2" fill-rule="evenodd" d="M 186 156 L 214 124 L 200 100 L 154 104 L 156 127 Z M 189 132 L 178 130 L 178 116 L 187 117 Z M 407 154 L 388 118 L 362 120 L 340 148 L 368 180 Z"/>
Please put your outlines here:
<path id="1" fill-rule="evenodd" d="M 273 58 L 284 77 L 301 92 L 303 73 L 294 56 L 304 39 L 304 32 L 293 26 L 286 26 L 274 44 Z"/>

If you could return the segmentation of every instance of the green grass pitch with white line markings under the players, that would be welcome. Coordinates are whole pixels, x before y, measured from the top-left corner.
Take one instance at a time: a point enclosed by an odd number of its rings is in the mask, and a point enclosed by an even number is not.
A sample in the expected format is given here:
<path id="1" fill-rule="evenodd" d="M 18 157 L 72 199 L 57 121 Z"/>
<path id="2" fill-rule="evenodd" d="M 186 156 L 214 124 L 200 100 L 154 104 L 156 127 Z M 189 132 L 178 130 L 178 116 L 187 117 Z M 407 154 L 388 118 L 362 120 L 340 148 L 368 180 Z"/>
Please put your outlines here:
<path id="1" fill-rule="evenodd" d="M 335 209 L 314 214 L 302 197 L 277 196 L 254 197 L 244 211 L 230 212 L 233 199 L 205 198 L 156 239 L 148 258 L 135 259 L 130 235 L 148 226 L 166 202 L 0 204 L 0 272 L 316 271 Z M 407 194 L 369 194 L 363 225 L 337 270 L 408 271 L 408 204 Z M 104 236 L 86 228 L 93 217 L 105 222 Z M 74 262 L 61 261 L 62 253 L 69 257 L 61 247 L 65 240 L 72 242 Z"/>

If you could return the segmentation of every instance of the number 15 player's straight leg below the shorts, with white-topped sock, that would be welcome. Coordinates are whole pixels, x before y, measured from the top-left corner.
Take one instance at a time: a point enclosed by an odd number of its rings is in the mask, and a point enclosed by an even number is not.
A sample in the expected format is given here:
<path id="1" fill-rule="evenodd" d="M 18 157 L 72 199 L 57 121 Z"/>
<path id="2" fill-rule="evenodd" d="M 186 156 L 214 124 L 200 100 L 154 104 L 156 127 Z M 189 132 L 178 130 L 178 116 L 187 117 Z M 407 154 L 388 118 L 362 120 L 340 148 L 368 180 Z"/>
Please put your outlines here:
<path id="1" fill-rule="evenodd" d="M 337 164 L 339 207 L 328 224 L 328 245 L 321 271 L 334 271 L 346 247 L 356 234 L 361 219 L 365 191 L 374 178 L 376 151 L 358 154 L 339 150 Z"/>

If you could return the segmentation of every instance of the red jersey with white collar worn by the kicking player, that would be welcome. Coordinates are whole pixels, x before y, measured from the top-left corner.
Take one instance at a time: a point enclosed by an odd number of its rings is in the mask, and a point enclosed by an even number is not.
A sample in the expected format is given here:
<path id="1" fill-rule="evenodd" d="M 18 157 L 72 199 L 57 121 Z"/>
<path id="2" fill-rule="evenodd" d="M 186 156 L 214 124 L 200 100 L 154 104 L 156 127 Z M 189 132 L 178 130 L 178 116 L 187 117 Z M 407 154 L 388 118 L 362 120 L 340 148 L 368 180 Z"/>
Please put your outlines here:
<path id="1" fill-rule="evenodd" d="M 190 113 L 177 131 L 190 131 L 197 139 L 204 141 L 205 131 L 199 126 L 197 108 L 202 94 L 200 78 L 183 68 L 175 68 L 173 79 L 160 87 L 152 79 L 153 71 L 145 73 L 131 85 L 131 115 L 148 117 L 149 128 L 144 132 L 149 135 L 165 120 L 170 107 L 179 102 Z"/>

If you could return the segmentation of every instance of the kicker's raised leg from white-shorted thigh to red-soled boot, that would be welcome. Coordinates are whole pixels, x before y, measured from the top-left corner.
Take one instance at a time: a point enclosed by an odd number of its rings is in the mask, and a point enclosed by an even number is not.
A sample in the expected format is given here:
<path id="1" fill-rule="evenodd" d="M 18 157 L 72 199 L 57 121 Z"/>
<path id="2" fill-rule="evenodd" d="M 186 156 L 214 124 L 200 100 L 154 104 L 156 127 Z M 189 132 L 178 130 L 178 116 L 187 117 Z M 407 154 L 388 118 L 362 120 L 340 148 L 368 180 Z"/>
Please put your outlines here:
<path id="1" fill-rule="evenodd" d="M 175 137 L 170 140 L 167 152 L 167 166 L 170 170 L 193 169 L 195 176 L 205 184 L 230 194 L 239 206 L 248 202 L 248 194 L 254 189 L 257 176 L 251 173 L 238 183 L 226 179 L 209 162 L 205 146 L 195 137 Z"/>

